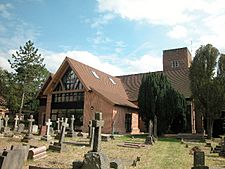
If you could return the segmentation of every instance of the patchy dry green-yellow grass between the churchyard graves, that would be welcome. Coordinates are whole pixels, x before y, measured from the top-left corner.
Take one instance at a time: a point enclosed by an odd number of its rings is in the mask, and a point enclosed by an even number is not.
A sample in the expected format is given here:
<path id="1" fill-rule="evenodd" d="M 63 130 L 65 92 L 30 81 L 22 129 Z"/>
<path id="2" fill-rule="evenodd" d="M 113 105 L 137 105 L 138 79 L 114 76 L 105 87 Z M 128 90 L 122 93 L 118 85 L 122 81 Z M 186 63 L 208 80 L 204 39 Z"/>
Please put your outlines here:
<path id="1" fill-rule="evenodd" d="M 81 138 L 66 138 L 65 141 L 78 142 L 88 141 Z M 206 164 L 209 167 L 225 167 L 225 158 L 221 158 L 218 154 L 210 154 L 210 148 L 204 147 L 205 143 L 187 143 L 181 144 L 180 141 L 173 138 L 160 138 L 153 146 L 146 146 L 140 149 L 119 147 L 117 144 L 124 141 L 144 142 L 143 136 L 129 136 L 117 137 L 116 140 L 109 142 L 102 142 L 102 151 L 108 155 L 109 158 L 120 158 L 124 162 L 130 162 L 141 157 L 141 161 L 135 169 L 190 169 L 193 166 L 193 155 L 190 155 L 190 150 L 194 146 L 199 146 L 206 154 Z M 9 148 L 11 145 L 21 144 L 17 139 L 1 138 L 0 148 Z M 215 142 L 213 142 L 215 144 Z M 31 145 L 46 145 L 44 141 L 32 141 Z M 40 161 L 26 162 L 24 169 L 28 169 L 29 165 L 55 168 L 72 168 L 72 162 L 75 160 L 83 160 L 84 154 L 90 150 L 85 146 L 67 145 L 68 151 L 66 153 L 55 153 L 48 151 L 48 156 Z M 127 166 L 127 169 L 134 167 Z"/>

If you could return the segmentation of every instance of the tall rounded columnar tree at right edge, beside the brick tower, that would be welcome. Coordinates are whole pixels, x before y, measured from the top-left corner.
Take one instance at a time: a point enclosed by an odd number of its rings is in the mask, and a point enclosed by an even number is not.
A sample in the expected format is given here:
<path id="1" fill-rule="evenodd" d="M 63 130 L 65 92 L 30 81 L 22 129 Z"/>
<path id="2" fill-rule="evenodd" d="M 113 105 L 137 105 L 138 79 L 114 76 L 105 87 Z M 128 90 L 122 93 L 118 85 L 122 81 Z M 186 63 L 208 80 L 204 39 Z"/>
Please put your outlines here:
<path id="1" fill-rule="evenodd" d="M 219 51 L 211 44 L 201 46 L 190 67 L 191 91 L 197 113 L 207 120 L 208 137 L 212 137 L 214 120 L 224 106 L 224 83 L 215 75 Z M 224 56 L 219 59 L 218 75 L 224 74 Z M 219 77 L 219 76 L 218 76 Z"/>

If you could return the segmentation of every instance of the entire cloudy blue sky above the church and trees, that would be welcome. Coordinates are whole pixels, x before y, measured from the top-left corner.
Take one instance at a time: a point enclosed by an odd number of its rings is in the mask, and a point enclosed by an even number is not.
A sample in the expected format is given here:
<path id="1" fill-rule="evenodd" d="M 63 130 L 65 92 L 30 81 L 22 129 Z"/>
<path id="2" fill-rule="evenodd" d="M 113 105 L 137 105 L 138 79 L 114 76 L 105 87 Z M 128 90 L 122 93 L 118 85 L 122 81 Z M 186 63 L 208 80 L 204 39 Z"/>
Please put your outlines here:
<path id="1" fill-rule="evenodd" d="M 1 0 L 0 66 L 32 40 L 55 72 L 68 56 L 112 75 L 162 70 L 164 49 L 225 52 L 224 0 Z"/>

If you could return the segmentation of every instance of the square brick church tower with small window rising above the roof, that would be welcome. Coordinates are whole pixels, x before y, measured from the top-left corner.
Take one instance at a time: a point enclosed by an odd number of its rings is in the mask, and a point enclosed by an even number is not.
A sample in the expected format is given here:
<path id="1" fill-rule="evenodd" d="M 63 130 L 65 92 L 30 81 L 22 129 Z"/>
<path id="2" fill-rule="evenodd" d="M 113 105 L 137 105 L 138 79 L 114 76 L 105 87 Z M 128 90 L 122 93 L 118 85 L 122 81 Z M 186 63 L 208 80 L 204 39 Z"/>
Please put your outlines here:
<path id="1" fill-rule="evenodd" d="M 163 51 L 163 71 L 187 69 L 191 62 L 192 56 L 187 47 Z"/>

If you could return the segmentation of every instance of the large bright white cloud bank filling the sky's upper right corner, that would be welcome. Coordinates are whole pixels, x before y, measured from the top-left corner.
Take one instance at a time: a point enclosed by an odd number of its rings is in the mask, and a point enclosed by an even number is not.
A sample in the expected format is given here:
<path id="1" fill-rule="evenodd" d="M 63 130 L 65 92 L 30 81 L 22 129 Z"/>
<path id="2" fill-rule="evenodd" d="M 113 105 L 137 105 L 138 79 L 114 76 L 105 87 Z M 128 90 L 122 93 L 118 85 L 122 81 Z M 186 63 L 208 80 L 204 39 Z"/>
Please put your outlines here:
<path id="1" fill-rule="evenodd" d="M 224 0 L 98 0 L 102 13 L 163 26 L 171 39 L 212 43 L 225 51 Z"/>

